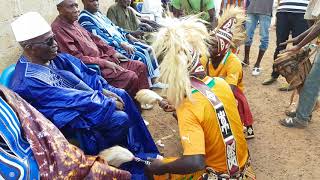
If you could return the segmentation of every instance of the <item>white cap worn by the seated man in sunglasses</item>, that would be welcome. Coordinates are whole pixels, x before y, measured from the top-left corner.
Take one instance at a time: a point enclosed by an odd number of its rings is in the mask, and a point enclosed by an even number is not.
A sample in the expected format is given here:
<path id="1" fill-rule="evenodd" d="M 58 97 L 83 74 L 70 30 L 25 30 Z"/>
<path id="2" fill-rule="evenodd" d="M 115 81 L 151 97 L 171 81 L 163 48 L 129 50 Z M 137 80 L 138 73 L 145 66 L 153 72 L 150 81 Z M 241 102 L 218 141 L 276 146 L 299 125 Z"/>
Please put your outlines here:
<path id="1" fill-rule="evenodd" d="M 28 12 L 11 23 L 16 41 L 22 42 L 51 31 L 50 25 L 37 12 Z"/>

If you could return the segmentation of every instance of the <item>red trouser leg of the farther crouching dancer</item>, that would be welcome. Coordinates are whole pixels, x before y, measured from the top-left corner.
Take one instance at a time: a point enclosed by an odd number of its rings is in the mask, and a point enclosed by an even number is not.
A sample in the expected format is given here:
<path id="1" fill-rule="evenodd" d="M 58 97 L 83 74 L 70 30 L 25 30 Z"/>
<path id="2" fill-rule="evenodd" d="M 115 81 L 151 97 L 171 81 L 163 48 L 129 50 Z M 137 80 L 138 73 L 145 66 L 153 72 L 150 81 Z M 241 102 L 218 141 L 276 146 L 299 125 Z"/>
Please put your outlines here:
<path id="1" fill-rule="evenodd" d="M 251 114 L 249 103 L 247 101 L 246 96 L 238 87 L 235 87 L 233 94 L 238 101 L 238 111 L 239 111 L 242 123 L 246 127 L 251 126 L 253 124 L 253 118 L 252 118 L 252 114 Z"/>

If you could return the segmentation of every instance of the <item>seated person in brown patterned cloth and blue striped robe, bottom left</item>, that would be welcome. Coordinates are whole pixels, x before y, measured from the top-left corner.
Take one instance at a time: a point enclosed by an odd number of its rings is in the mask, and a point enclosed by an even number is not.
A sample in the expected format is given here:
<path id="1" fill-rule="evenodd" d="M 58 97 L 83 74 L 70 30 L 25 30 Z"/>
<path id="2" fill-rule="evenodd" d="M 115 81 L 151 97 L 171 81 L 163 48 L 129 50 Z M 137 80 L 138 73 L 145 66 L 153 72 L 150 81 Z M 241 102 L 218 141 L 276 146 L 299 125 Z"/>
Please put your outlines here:
<path id="1" fill-rule="evenodd" d="M 3 179 L 131 178 L 129 172 L 109 166 L 98 156 L 85 155 L 52 122 L 1 85 L 0 117 Z"/>

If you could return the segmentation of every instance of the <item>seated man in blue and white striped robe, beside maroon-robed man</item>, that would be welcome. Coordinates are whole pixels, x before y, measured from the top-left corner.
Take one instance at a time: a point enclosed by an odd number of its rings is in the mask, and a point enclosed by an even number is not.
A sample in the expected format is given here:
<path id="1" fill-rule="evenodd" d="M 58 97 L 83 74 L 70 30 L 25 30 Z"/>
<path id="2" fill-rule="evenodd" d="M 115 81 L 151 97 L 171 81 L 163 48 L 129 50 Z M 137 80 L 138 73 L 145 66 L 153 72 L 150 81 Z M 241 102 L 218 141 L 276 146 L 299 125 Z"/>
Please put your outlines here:
<path id="1" fill-rule="evenodd" d="M 132 35 L 114 25 L 99 11 L 98 0 L 82 0 L 84 10 L 80 13 L 79 23 L 92 34 L 100 37 L 105 43 L 116 48 L 126 57 L 142 61 L 148 67 L 149 77 L 154 80 L 159 76 L 158 62 L 152 48 L 140 43 Z M 153 87 L 161 87 L 154 83 Z"/>

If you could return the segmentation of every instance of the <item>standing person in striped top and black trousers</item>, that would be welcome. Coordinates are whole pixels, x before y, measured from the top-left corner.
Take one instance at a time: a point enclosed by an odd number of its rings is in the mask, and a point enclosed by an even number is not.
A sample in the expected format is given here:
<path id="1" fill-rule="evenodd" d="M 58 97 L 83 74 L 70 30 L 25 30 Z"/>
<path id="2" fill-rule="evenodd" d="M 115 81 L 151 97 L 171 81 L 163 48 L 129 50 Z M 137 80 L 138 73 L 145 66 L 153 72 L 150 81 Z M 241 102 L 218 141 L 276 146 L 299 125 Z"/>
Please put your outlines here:
<path id="1" fill-rule="evenodd" d="M 277 58 L 280 51 L 286 49 L 286 45 L 280 44 L 288 40 L 290 33 L 292 38 L 295 38 L 308 29 L 308 23 L 304 19 L 308 4 L 309 0 L 278 0 L 276 15 L 277 47 L 274 53 L 274 59 Z M 279 73 L 275 72 L 273 68 L 271 77 L 262 84 L 272 84 L 278 77 Z M 292 88 L 287 86 L 279 88 L 279 90 L 288 91 L 292 90 Z"/>

